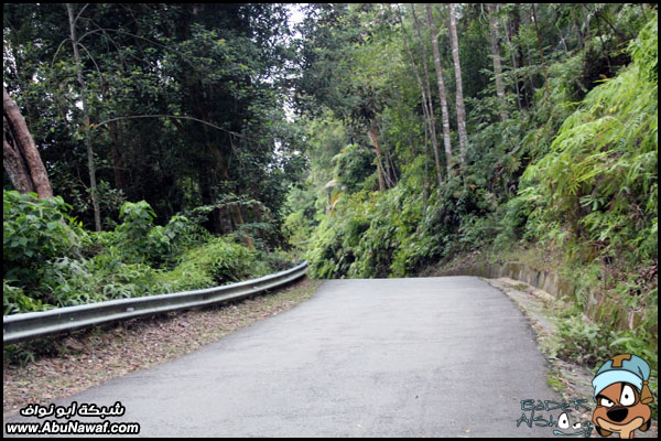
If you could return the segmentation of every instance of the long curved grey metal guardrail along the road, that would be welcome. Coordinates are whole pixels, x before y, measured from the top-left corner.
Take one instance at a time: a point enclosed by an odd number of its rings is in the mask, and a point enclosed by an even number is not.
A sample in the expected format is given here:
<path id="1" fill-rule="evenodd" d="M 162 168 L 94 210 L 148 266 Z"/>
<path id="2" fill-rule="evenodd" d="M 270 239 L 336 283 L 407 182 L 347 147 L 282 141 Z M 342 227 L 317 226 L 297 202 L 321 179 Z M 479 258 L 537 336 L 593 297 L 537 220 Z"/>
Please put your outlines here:
<path id="1" fill-rule="evenodd" d="M 6 345 L 100 323 L 240 300 L 286 284 L 303 277 L 306 271 L 307 261 L 304 261 L 294 268 L 275 275 L 224 287 L 133 299 L 108 300 L 79 306 L 7 315 L 2 318 L 2 343 Z"/>

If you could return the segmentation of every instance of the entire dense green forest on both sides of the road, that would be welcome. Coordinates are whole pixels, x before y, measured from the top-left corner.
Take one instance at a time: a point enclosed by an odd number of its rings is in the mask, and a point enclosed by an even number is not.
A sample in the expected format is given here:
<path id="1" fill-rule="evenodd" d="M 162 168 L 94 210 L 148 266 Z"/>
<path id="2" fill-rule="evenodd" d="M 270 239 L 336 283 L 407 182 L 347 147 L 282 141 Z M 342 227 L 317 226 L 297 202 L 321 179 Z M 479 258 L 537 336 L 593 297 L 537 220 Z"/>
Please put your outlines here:
<path id="1" fill-rule="evenodd" d="M 576 284 L 559 355 L 655 378 L 655 4 L 3 12 L 4 314 L 527 258 Z"/>

